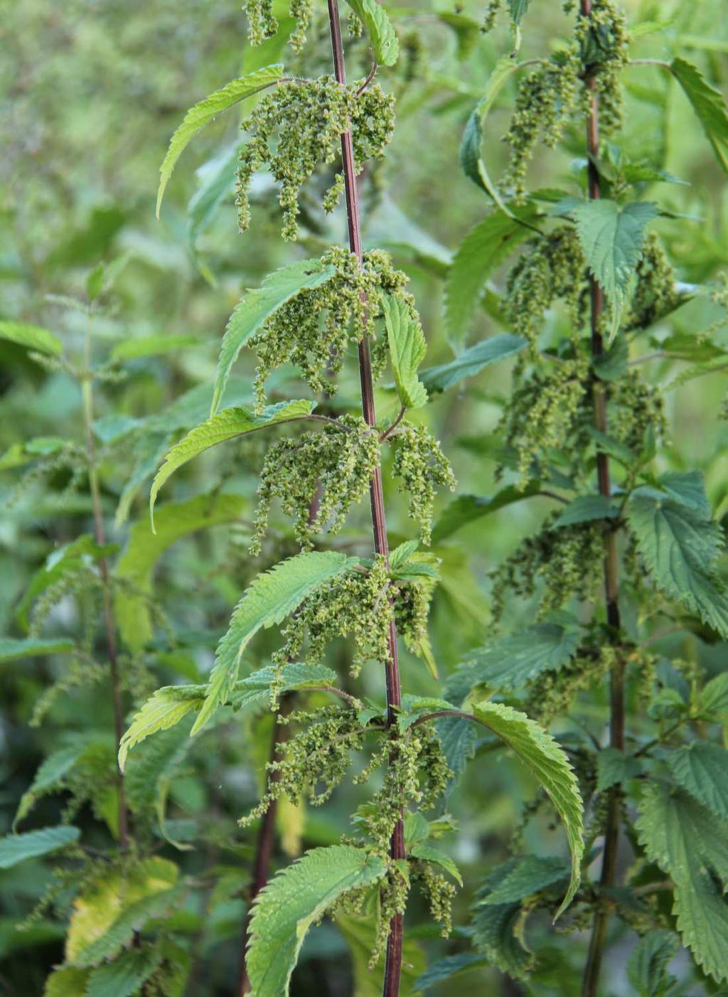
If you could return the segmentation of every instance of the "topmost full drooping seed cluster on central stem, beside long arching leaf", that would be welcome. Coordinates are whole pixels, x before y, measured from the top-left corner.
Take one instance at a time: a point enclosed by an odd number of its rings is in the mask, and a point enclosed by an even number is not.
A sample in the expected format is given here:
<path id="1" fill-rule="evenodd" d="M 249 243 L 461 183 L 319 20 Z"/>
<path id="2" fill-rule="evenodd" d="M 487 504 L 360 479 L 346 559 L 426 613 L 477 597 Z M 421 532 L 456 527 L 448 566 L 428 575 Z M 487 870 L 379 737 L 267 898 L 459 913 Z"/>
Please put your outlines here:
<path id="1" fill-rule="evenodd" d="M 334 163 L 341 155 L 340 139 L 351 130 L 354 161 L 360 172 L 367 160 L 381 159 L 394 130 L 394 98 L 379 84 L 359 92 L 358 84 L 342 86 L 333 76 L 281 83 L 260 100 L 242 122 L 249 135 L 237 169 L 238 224 L 250 223 L 248 188 L 252 174 L 267 166 L 280 183 L 282 234 L 297 235 L 298 192 L 317 166 Z M 333 210 L 343 190 L 339 174 L 324 197 Z"/>

